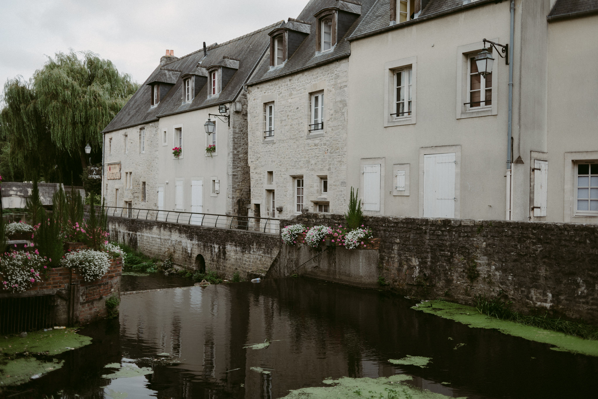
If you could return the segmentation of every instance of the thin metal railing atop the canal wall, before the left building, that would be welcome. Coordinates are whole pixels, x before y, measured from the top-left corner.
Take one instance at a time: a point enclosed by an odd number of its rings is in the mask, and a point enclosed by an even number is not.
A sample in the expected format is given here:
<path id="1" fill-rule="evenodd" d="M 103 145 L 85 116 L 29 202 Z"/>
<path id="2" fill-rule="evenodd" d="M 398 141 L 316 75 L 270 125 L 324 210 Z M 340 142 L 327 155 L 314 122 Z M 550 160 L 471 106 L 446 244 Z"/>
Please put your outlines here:
<path id="1" fill-rule="evenodd" d="M 202 214 L 197 212 L 161 211 L 158 209 L 123 208 L 106 206 L 109 217 L 152 220 L 191 226 L 216 227 L 218 229 L 246 230 L 279 234 L 280 220 L 274 218 L 258 218 L 252 216 Z"/>

